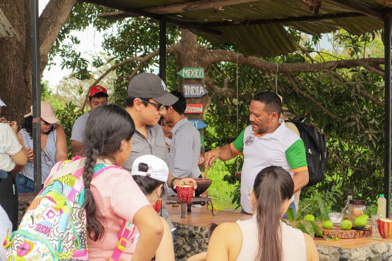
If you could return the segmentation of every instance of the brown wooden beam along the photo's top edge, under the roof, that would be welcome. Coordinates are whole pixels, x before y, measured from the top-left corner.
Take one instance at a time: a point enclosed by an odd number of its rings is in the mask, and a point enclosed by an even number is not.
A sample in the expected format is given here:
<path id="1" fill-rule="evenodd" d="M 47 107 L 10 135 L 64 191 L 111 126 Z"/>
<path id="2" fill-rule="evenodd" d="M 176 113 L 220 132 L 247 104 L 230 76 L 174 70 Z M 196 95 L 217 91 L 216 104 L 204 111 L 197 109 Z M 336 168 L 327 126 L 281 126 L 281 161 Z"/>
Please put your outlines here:
<path id="1" fill-rule="evenodd" d="M 187 11 L 199 11 L 204 9 L 253 3 L 259 1 L 260 0 L 199 0 L 199 1 L 181 3 L 181 4 L 148 8 L 145 9 L 145 11 L 153 14 L 163 15 L 163 14 L 182 13 Z"/>

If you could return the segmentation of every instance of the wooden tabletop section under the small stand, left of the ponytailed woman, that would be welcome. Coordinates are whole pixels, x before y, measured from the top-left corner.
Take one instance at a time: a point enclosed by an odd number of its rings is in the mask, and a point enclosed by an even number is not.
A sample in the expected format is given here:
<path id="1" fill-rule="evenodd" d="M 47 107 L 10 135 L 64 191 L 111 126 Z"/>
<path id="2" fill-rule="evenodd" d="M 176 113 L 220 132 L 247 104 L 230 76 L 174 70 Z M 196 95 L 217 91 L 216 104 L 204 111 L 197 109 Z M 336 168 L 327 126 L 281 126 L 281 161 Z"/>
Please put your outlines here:
<path id="1" fill-rule="evenodd" d="M 205 206 L 192 207 L 192 212 L 186 212 L 185 218 L 181 219 L 181 207 L 173 207 L 172 205 L 166 205 L 172 222 L 180 224 L 195 225 L 201 227 L 209 227 L 211 223 L 223 223 L 223 222 L 235 222 L 237 220 L 246 220 L 251 218 L 251 215 L 241 214 L 238 212 L 214 210 L 215 216 L 211 214 L 211 209 L 207 209 Z"/>

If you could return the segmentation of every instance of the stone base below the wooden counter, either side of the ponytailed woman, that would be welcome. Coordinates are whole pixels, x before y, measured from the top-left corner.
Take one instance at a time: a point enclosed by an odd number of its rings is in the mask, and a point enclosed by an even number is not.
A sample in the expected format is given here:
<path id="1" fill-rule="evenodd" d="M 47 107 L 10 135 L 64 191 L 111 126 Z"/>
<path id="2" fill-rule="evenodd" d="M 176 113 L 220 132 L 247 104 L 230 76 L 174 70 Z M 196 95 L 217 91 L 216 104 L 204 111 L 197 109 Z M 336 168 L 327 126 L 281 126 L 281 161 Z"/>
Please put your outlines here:
<path id="1" fill-rule="evenodd" d="M 174 255 L 177 261 L 207 251 L 208 228 L 174 223 Z M 320 261 L 392 261 L 392 242 L 358 248 L 317 245 Z"/>

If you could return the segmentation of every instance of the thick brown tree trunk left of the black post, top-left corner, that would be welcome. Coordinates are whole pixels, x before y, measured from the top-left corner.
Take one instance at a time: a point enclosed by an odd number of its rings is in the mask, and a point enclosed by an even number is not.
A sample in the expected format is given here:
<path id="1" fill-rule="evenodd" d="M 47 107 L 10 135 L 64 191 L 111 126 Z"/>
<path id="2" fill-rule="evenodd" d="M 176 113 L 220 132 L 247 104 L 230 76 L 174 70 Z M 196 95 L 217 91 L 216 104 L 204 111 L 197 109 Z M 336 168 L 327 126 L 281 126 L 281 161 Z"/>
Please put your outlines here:
<path id="1" fill-rule="evenodd" d="M 3 0 L 0 8 L 17 37 L 0 38 L 2 116 L 19 123 L 31 106 L 30 13 L 28 0 Z"/>

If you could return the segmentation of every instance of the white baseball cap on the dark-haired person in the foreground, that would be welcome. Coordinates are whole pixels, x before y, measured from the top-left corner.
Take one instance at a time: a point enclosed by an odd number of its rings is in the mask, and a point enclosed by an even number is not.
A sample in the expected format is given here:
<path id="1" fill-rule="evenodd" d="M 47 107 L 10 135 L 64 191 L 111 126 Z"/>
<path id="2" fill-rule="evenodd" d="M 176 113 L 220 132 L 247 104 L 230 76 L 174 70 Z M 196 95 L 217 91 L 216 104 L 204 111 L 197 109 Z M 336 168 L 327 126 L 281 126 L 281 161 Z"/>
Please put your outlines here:
<path id="1" fill-rule="evenodd" d="M 139 171 L 139 164 L 144 163 L 148 165 L 147 172 Z M 160 158 L 154 155 L 143 155 L 135 159 L 132 164 L 132 175 L 140 175 L 150 177 L 159 181 L 166 182 L 169 176 L 169 168 L 167 164 Z"/>

